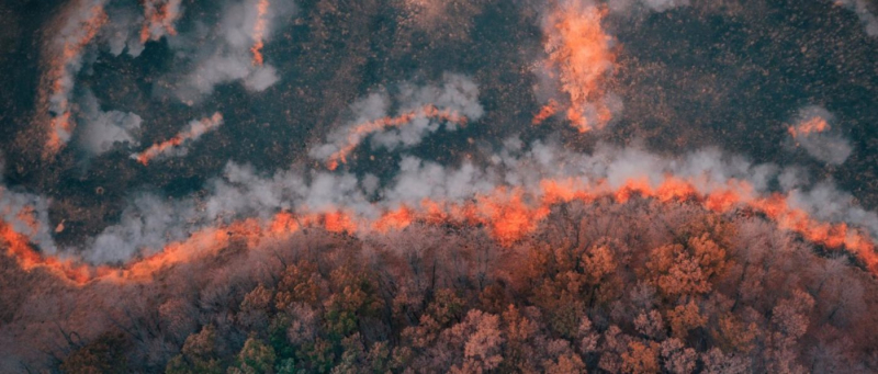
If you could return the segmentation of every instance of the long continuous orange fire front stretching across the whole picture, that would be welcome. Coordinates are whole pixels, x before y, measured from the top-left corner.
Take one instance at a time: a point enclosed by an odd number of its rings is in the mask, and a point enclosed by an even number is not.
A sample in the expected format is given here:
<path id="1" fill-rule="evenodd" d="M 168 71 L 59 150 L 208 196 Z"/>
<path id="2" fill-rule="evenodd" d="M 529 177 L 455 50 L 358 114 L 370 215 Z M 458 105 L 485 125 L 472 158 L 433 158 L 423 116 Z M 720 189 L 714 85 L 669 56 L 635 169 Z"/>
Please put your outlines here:
<path id="1" fill-rule="evenodd" d="M 804 211 L 788 204 L 783 194 L 758 196 L 744 181 L 729 180 L 722 185 L 705 186 L 698 179 L 665 175 L 657 183 L 632 178 L 612 186 L 606 180 L 585 183 L 576 179 L 547 179 L 538 191 L 520 188 L 497 188 L 464 202 L 425 200 L 419 206 L 399 206 L 386 209 L 378 218 L 357 216 L 344 209 L 327 212 L 280 212 L 260 222 L 243 219 L 230 225 L 209 227 L 188 239 L 172 242 L 161 251 L 135 260 L 122 268 L 89 267 L 75 261 L 61 261 L 42 256 L 30 245 L 27 235 L 16 233 L 0 222 L 0 238 L 8 252 L 25 270 L 47 268 L 77 284 L 91 280 L 137 281 L 149 280 L 151 274 L 176 263 L 212 256 L 226 248 L 232 239 L 243 239 L 250 248 L 262 240 L 289 238 L 303 227 L 320 227 L 331 233 L 386 233 L 403 229 L 413 223 L 483 226 L 503 246 L 509 246 L 536 231 L 549 216 L 554 204 L 573 201 L 594 202 L 611 199 L 624 203 L 634 195 L 654 199 L 661 203 L 690 202 L 718 213 L 748 208 L 764 214 L 780 229 L 798 233 L 806 240 L 830 249 L 846 249 L 873 273 L 878 273 L 878 254 L 871 238 L 844 223 L 824 223 L 810 217 Z"/>

